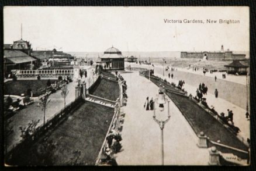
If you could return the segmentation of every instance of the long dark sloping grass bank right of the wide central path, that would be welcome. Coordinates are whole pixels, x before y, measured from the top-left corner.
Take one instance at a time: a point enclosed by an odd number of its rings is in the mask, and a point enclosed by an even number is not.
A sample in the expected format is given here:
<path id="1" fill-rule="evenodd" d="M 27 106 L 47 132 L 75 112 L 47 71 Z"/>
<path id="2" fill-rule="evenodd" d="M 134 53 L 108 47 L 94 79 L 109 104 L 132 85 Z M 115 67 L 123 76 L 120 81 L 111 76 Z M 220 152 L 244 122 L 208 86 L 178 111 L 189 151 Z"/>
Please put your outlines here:
<path id="1" fill-rule="evenodd" d="M 148 72 L 146 72 L 146 74 L 147 73 Z M 148 75 L 145 77 L 148 78 Z M 154 77 L 150 77 L 150 79 L 158 87 L 160 84 L 162 84 L 166 88 L 169 88 L 168 84 L 161 79 L 154 79 Z M 196 134 L 199 134 L 200 131 L 203 131 L 211 141 L 216 142 L 217 140 L 220 140 L 221 144 L 247 151 L 248 147 L 244 145 L 240 140 L 238 140 L 234 133 L 231 133 L 230 130 L 224 127 L 224 125 L 216 120 L 212 115 L 210 115 L 210 113 L 206 112 L 205 109 L 196 104 L 196 102 L 192 101 L 184 95 L 177 94 L 177 92 L 174 91 L 167 91 L 167 95 L 172 99 L 174 104 L 177 105 Z M 209 145 L 212 144 L 210 143 Z M 246 155 L 235 151 L 230 151 L 227 148 L 217 147 L 217 149 L 222 152 L 231 152 L 243 158 L 246 157 Z"/>

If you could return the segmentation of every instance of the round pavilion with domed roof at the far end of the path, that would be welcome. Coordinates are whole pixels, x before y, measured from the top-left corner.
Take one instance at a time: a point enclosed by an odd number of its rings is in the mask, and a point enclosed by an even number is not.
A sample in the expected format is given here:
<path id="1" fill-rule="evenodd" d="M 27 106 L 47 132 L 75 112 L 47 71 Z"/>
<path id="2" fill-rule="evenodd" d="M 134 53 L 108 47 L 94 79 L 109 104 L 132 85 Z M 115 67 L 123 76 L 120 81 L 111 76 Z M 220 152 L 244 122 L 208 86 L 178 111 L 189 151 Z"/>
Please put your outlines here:
<path id="1" fill-rule="evenodd" d="M 106 70 L 124 70 L 124 56 L 113 46 L 106 49 L 99 63 Z"/>

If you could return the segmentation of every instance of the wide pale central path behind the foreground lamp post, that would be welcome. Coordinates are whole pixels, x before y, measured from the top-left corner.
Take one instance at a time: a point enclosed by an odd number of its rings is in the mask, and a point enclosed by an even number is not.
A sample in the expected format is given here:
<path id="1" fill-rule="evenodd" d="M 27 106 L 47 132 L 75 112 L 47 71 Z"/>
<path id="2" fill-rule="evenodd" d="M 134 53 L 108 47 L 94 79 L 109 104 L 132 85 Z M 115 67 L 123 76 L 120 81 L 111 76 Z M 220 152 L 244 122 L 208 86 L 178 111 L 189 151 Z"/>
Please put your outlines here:
<path id="1" fill-rule="evenodd" d="M 123 151 L 116 154 L 118 165 L 161 165 L 160 127 L 153 111 L 143 108 L 146 97 L 154 97 L 158 87 L 138 72 L 122 74 L 127 84 L 128 101 L 124 106 Z M 165 165 L 207 165 L 209 152 L 196 146 L 197 137 L 174 103 L 171 119 L 164 129 Z"/>

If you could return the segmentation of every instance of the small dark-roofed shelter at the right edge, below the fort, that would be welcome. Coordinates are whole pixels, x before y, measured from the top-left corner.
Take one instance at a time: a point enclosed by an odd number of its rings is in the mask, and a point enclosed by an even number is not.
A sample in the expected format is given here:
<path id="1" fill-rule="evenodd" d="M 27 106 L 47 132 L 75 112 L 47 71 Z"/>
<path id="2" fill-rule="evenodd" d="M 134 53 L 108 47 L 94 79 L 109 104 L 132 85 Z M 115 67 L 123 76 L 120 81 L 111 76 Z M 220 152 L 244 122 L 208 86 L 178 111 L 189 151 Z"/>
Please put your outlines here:
<path id="1" fill-rule="evenodd" d="M 243 65 L 239 60 L 233 60 L 232 63 L 229 65 L 224 65 L 227 69 L 228 74 L 240 74 L 240 75 L 245 75 L 247 74 L 247 65 Z"/>

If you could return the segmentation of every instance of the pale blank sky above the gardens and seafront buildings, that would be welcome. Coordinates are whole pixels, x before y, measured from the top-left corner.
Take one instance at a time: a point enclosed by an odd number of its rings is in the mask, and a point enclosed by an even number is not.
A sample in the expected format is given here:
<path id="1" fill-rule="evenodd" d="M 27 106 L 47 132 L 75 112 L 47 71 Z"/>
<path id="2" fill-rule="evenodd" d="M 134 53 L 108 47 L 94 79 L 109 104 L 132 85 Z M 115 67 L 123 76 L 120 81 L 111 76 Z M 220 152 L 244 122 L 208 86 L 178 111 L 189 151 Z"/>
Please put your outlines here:
<path id="1" fill-rule="evenodd" d="M 165 23 L 164 20 L 182 20 Z M 184 23 L 202 20 L 204 23 Z M 206 20 L 217 23 L 206 23 Z M 239 24 L 218 23 L 219 19 Z M 34 50 L 250 51 L 247 7 L 26 7 L 4 8 L 4 43 L 21 38 Z"/>

